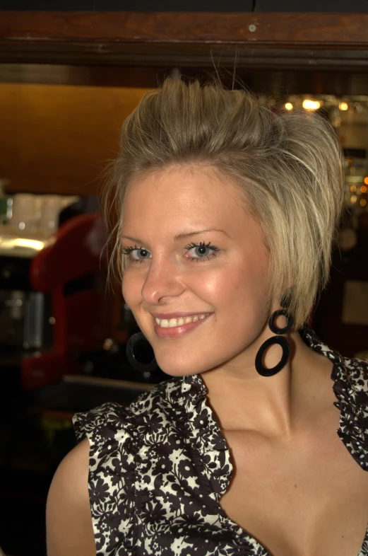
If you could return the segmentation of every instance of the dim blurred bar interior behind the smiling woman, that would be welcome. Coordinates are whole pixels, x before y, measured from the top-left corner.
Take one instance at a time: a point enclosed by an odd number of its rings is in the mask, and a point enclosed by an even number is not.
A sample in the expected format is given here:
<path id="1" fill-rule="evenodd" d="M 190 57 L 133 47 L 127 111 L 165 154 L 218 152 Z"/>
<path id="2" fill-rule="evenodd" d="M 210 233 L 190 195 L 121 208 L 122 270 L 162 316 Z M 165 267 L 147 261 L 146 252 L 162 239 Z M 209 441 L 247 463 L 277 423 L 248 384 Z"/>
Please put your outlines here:
<path id="1" fill-rule="evenodd" d="M 368 359 L 368 1 L 0 0 L 0 546 L 44 556 L 54 470 L 74 412 L 129 404 L 137 326 L 106 288 L 104 170 L 119 128 L 170 74 L 245 86 L 326 117 L 345 154 L 345 211 L 311 325 Z M 349 11 L 348 11 L 349 10 Z M 150 354 L 144 354 L 150 357 Z"/>

